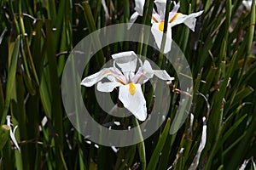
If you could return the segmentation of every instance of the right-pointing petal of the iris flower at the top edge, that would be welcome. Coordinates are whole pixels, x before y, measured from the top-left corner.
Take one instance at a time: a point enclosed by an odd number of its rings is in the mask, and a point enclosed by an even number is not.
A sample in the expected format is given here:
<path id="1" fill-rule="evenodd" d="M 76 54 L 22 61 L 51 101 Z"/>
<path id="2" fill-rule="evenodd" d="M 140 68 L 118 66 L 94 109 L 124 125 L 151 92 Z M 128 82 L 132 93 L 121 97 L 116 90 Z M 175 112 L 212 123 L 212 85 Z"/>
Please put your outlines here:
<path id="1" fill-rule="evenodd" d="M 201 15 L 202 13 L 203 11 L 192 13 L 189 15 L 177 13 L 175 20 L 172 20 L 172 22 L 170 23 L 170 26 L 172 27 L 172 26 L 176 26 L 181 23 L 184 23 L 186 26 L 189 27 L 190 30 L 195 31 L 195 21 L 196 21 L 195 17 Z"/>

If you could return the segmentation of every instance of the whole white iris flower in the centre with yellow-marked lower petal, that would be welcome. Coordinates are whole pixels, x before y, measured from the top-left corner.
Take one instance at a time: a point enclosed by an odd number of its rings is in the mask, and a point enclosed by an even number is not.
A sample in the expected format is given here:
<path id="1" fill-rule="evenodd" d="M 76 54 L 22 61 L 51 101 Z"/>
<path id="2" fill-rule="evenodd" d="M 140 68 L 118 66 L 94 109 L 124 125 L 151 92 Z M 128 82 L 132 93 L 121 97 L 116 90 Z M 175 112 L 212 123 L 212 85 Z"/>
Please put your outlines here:
<path id="1" fill-rule="evenodd" d="M 112 58 L 113 67 L 103 68 L 102 71 L 85 77 L 81 85 L 91 87 L 98 82 L 96 88 L 101 92 L 112 92 L 113 88 L 119 87 L 119 100 L 125 108 L 138 120 L 145 121 L 147 107 L 141 85 L 154 75 L 166 81 L 172 81 L 174 78 L 166 71 L 153 70 L 148 60 L 143 63 L 133 51 L 113 54 Z M 137 59 L 140 67 L 136 72 Z M 119 66 L 121 71 L 116 66 Z M 103 78 L 107 78 L 109 82 L 101 82 Z"/>

